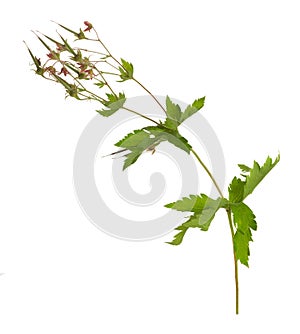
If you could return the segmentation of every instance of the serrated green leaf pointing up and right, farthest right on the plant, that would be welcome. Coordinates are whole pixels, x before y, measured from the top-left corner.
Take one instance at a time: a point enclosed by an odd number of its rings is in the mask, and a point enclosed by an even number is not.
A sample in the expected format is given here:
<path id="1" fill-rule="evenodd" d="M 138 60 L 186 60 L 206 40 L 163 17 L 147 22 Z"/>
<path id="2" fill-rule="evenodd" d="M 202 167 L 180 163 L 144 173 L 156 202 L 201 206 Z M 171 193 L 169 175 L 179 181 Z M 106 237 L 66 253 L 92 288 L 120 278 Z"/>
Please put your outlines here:
<path id="1" fill-rule="evenodd" d="M 267 157 L 267 160 L 263 166 L 259 166 L 259 164 L 256 161 L 254 161 L 252 169 L 246 171 L 244 168 L 244 172 L 247 172 L 248 174 L 246 175 L 246 179 L 244 181 L 245 182 L 244 196 L 243 196 L 244 198 L 246 198 L 253 192 L 253 190 L 262 181 L 262 179 L 277 165 L 279 160 L 280 160 L 280 155 L 277 156 L 274 162 L 270 157 Z M 245 167 L 245 165 L 242 166 Z"/>

